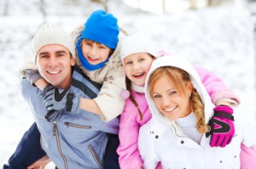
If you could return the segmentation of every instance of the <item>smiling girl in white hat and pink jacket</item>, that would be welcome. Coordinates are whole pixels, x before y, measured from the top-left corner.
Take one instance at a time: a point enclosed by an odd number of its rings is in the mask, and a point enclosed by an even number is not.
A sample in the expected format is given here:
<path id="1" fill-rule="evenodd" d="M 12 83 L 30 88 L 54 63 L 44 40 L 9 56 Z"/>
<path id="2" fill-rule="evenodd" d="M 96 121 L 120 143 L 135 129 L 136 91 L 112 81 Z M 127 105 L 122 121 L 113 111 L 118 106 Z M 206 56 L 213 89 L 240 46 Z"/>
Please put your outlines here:
<path id="1" fill-rule="evenodd" d="M 155 53 L 149 40 L 139 34 L 125 37 L 121 42 L 120 52 L 125 68 L 126 87 L 131 94 L 129 99 L 126 99 L 125 110 L 120 118 L 119 165 L 121 168 L 137 169 L 143 166 L 143 160 L 137 148 L 138 131 L 151 118 L 144 95 L 144 84 L 148 70 L 159 54 Z M 214 104 L 239 104 L 236 95 L 224 85 L 221 79 L 202 68 L 197 70 L 202 81 L 207 85 Z M 256 152 L 253 153 L 256 155 Z"/>

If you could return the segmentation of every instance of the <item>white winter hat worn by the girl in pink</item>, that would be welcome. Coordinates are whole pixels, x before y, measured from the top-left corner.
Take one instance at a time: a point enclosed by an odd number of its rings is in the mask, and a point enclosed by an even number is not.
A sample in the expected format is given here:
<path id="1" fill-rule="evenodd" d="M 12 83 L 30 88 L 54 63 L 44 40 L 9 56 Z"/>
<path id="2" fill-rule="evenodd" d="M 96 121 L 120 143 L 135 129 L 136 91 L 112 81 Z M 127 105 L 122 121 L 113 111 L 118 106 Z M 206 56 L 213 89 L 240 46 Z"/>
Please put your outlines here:
<path id="1" fill-rule="evenodd" d="M 125 57 L 131 54 L 148 53 L 158 58 L 158 54 L 150 40 L 142 33 L 124 37 L 120 42 L 120 57 L 124 64 Z"/>

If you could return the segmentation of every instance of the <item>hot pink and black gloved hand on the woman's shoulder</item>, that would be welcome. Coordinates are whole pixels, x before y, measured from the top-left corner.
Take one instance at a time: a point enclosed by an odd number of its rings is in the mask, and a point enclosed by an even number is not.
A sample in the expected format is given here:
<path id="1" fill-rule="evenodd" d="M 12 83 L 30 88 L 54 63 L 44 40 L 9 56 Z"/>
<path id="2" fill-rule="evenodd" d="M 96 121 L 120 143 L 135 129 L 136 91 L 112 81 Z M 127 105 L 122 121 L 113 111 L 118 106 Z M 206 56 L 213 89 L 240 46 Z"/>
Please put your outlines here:
<path id="1" fill-rule="evenodd" d="M 206 136 L 211 135 L 210 145 L 212 147 L 225 147 L 230 144 L 235 134 L 233 109 L 227 105 L 218 105 L 213 110 L 214 115 L 208 123 L 211 130 Z"/>

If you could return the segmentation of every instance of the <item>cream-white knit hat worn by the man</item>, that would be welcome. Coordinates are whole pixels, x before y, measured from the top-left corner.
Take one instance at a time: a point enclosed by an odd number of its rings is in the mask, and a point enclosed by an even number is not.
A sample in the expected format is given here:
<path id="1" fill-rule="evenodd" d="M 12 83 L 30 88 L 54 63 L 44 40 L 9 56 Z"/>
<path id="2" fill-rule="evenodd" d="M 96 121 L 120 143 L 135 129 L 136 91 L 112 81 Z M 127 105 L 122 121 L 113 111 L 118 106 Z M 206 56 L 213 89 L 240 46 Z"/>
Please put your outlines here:
<path id="1" fill-rule="evenodd" d="M 48 44 L 60 44 L 66 47 L 74 58 L 76 56 L 73 37 L 61 28 L 44 24 L 32 40 L 32 58 L 36 60 L 38 50 Z"/>

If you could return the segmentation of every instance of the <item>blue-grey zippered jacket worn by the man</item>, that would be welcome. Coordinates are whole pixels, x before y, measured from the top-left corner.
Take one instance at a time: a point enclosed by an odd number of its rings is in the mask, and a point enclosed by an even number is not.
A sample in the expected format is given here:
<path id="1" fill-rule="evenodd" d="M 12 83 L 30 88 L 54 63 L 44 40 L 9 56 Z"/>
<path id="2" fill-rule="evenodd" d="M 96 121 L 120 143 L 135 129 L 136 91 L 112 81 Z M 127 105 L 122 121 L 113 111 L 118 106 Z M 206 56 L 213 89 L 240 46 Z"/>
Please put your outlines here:
<path id="1" fill-rule="evenodd" d="M 101 87 L 74 66 L 70 88 L 72 93 L 94 99 Z M 58 168 L 102 168 L 102 158 L 108 142 L 106 132 L 118 134 L 118 118 L 104 122 L 100 115 L 79 109 L 73 113 L 63 110 L 58 120 L 48 122 L 44 118 L 47 110 L 38 87 L 33 87 L 25 78 L 21 81 L 21 92 L 37 122 L 42 148 Z"/>

